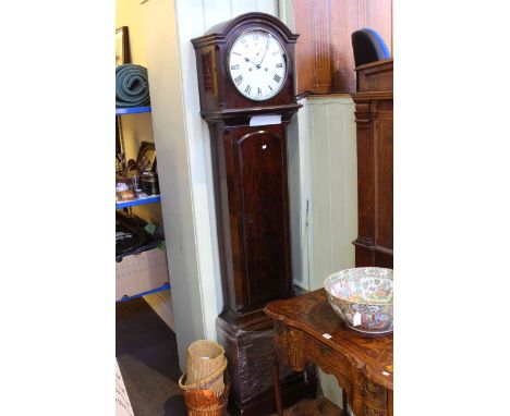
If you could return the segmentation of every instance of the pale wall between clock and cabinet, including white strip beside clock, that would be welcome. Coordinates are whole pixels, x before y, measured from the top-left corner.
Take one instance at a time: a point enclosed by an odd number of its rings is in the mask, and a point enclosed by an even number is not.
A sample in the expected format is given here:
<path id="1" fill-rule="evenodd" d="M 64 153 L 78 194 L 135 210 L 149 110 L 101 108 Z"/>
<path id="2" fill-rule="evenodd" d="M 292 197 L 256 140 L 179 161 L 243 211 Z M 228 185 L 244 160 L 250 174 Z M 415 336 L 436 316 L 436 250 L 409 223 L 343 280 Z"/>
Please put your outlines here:
<path id="1" fill-rule="evenodd" d="M 292 266 L 294 284 L 316 290 L 328 274 L 354 267 L 356 127 L 349 95 L 301 103 L 289 127 Z"/>

